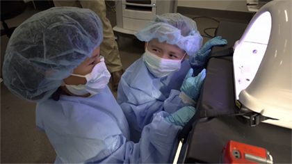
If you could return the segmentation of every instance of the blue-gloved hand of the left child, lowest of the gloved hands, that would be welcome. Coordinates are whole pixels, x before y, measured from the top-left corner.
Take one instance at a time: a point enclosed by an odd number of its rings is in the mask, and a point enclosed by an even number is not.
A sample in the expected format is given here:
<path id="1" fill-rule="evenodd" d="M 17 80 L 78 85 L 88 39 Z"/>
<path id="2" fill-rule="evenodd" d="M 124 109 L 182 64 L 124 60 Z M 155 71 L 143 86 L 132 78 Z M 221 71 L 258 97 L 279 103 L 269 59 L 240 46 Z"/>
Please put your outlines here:
<path id="1" fill-rule="evenodd" d="M 195 115 L 195 108 L 193 106 L 185 106 L 168 117 L 165 117 L 164 120 L 176 126 L 185 126 L 193 115 Z"/>

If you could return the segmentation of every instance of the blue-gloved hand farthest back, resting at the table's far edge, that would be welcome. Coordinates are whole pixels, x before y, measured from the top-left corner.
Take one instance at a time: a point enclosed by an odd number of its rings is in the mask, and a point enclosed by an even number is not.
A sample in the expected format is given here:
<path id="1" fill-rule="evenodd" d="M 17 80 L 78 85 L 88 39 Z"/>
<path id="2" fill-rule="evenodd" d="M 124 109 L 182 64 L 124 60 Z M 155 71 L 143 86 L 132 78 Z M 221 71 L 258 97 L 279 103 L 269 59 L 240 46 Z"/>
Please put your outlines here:
<path id="1" fill-rule="evenodd" d="M 213 46 L 222 46 L 227 44 L 227 40 L 222 40 L 222 37 L 217 36 L 208 42 L 204 44 L 204 46 L 195 53 L 195 60 L 199 60 L 201 62 L 204 62 L 207 60 L 210 52 L 211 52 L 211 47 Z"/>

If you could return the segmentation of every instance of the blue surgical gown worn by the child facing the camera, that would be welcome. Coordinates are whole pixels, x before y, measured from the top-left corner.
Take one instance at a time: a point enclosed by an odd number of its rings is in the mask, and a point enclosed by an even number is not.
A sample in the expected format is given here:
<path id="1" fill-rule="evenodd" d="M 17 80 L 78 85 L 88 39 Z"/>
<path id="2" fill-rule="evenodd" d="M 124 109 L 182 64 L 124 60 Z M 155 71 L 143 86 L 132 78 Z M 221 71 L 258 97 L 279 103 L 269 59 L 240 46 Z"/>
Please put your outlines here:
<path id="1" fill-rule="evenodd" d="M 124 72 L 117 90 L 117 103 L 127 117 L 133 142 L 140 140 L 143 127 L 152 121 L 154 113 L 164 110 L 171 114 L 189 106 L 179 97 L 189 69 L 186 59 L 179 71 L 160 79 L 149 72 L 143 58 L 140 58 Z"/>

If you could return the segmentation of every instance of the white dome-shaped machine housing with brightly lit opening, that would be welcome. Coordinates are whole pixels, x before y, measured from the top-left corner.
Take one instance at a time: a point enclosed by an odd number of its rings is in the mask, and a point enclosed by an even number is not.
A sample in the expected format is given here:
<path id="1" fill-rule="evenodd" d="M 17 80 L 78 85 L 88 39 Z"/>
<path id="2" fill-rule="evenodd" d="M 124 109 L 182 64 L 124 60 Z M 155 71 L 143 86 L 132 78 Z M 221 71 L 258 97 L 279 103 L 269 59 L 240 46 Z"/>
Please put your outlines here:
<path id="1" fill-rule="evenodd" d="M 292 129 L 291 1 L 263 6 L 234 46 L 236 100 Z"/>

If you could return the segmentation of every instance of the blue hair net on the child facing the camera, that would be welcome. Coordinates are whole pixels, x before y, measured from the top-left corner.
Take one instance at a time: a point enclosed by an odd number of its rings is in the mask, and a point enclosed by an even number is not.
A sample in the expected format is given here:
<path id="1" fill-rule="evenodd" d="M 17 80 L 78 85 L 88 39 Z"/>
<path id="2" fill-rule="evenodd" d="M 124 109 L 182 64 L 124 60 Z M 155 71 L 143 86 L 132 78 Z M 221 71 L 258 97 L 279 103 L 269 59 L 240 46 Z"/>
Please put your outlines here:
<path id="1" fill-rule="evenodd" d="M 179 13 L 154 16 L 152 21 L 136 33 L 136 37 L 143 42 L 157 38 L 159 42 L 175 44 L 190 56 L 199 51 L 203 42 L 195 21 Z"/>

